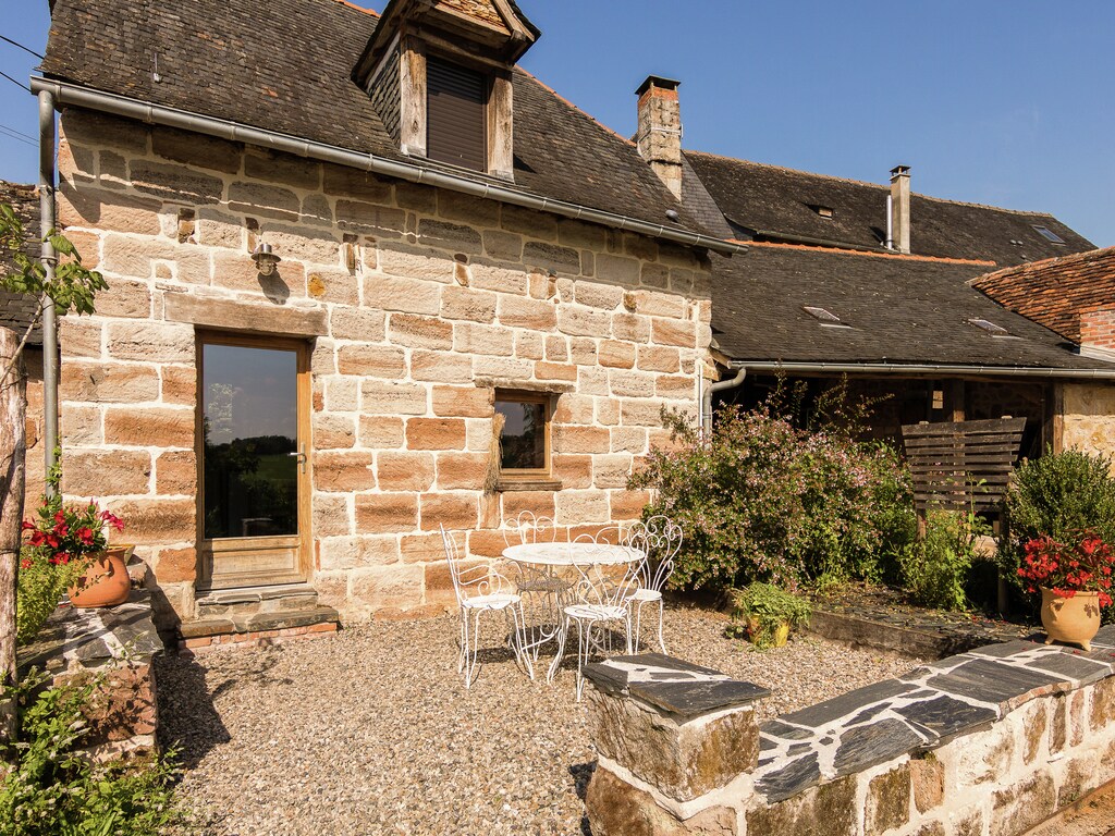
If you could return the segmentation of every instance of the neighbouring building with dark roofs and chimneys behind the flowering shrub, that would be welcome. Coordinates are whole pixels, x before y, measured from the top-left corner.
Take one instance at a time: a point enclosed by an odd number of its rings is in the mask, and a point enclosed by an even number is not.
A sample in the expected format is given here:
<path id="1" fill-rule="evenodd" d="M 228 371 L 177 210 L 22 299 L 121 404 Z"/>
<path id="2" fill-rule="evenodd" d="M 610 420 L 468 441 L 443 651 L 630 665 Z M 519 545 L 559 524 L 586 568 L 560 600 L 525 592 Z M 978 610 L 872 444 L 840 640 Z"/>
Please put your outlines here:
<path id="1" fill-rule="evenodd" d="M 812 392 L 847 376 L 853 392 L 886 398 L 876 437 L 1011 415 L 1027 418 L 1024 455 L 1109 447 L 1115 356 L 1082 351 L 1075 333 L 1036 315 L 1045 298 L 1004 308 L 970 284 L 985 290 L 972 280 L 1031 261 L 1088 259 L 1070 254 L 1090 242 L 1048 214 L 914 194 L 905 166 L 888 186 L 682 150 L 678 82 L 658 84 L 671 101 L 659 135 L 675 138 L 657 148 L 659 165 L 710 233 L 748 247 L 711 256 L 712 353 L 723 377 L 744 376 L 719 399 L 753 405 L 776 375 Z M 1082 435 L 1083 425 L 1104 429 Z"/>

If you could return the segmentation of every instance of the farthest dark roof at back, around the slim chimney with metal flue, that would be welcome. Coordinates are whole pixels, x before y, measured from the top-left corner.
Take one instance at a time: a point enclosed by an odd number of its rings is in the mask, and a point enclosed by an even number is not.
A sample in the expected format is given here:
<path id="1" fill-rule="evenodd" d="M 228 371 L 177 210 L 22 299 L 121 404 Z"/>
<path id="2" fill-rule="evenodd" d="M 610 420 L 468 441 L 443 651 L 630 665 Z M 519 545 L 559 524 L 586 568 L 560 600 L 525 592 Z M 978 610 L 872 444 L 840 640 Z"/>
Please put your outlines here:
<path id="1" fill-rule="evenodd" d="M 686 152 L 685 156 L 741 234 L 756 234 L 759 240 L 805 240 L 882 250 L 889 184 L 860 183 L 698 152 Z M 822 217 L 816 206 L 833 210 L 833 216 Z M 988 260 L 1007 266 L 1095 249 L 1044 213 L 914 194 L 910 216 L 911 250 L 915 255 Z M 1034 229 L 1036 225 L 1047 227 L 1065 243 L 1048 241 Z"/>

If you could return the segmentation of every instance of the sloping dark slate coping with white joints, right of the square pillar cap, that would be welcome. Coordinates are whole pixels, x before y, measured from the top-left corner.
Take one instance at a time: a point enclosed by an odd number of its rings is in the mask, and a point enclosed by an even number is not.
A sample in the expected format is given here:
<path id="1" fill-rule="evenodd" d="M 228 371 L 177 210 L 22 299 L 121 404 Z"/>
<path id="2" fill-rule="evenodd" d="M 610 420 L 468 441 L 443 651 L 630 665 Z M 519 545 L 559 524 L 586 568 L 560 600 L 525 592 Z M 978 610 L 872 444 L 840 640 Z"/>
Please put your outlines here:
<path id="1" fill-rule="evenodd" d="M 1085 653 L 1029 641 L 991 644 L 783 715 L 759 727 L 756 790 L 774 804 L 1115 674 L 1115 625 L 1092 647 Z"/>

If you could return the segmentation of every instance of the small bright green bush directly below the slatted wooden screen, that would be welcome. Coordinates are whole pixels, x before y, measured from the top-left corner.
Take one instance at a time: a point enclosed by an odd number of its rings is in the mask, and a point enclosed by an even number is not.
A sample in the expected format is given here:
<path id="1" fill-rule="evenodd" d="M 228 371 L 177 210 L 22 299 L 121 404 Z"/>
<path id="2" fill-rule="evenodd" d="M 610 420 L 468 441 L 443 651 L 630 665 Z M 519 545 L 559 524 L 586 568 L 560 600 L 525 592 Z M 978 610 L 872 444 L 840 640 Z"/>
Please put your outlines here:
<path id="1" fill-rule="evenodd" d="M 964 587 L 978 560 L 975 544 L 990 527 L 976 514 L 946 511 L 927 516 L 925 537 L 899 556 L 899 577 L 910 601 L 939 610 L 968 609 Z"/>

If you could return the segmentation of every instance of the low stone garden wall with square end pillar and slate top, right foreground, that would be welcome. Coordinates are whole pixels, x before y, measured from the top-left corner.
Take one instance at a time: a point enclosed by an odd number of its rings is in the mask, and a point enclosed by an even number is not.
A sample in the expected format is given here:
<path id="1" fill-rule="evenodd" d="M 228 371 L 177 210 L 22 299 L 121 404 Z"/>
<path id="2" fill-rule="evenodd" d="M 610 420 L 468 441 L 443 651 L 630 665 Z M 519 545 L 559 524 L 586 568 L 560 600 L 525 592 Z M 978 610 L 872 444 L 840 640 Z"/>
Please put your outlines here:
<path id="1" fill-rule="evenodd" d="M 671 661 L 591 667 L 595 836 L 1015 836 L 1115 778 L 1115 626 L 1090 653 L 990 645 L 757 728 L 760 689 Z"/>

